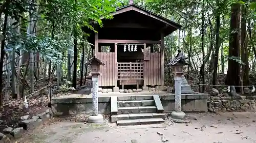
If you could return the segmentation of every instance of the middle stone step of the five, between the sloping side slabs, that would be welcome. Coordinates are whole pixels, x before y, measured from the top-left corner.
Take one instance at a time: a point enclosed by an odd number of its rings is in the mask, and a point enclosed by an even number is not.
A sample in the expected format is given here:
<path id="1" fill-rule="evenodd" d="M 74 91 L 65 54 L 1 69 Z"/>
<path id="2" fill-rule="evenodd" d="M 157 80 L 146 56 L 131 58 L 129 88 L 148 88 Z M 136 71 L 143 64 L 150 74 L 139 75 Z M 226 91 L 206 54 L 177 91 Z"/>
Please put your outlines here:
<path id="1" fill-rule="evenodd" d="M 156 106 L 133 106 L 133 107 L 118 107 L 118 114 L 123 113 L 154 113 L 157 111 Z"/>

